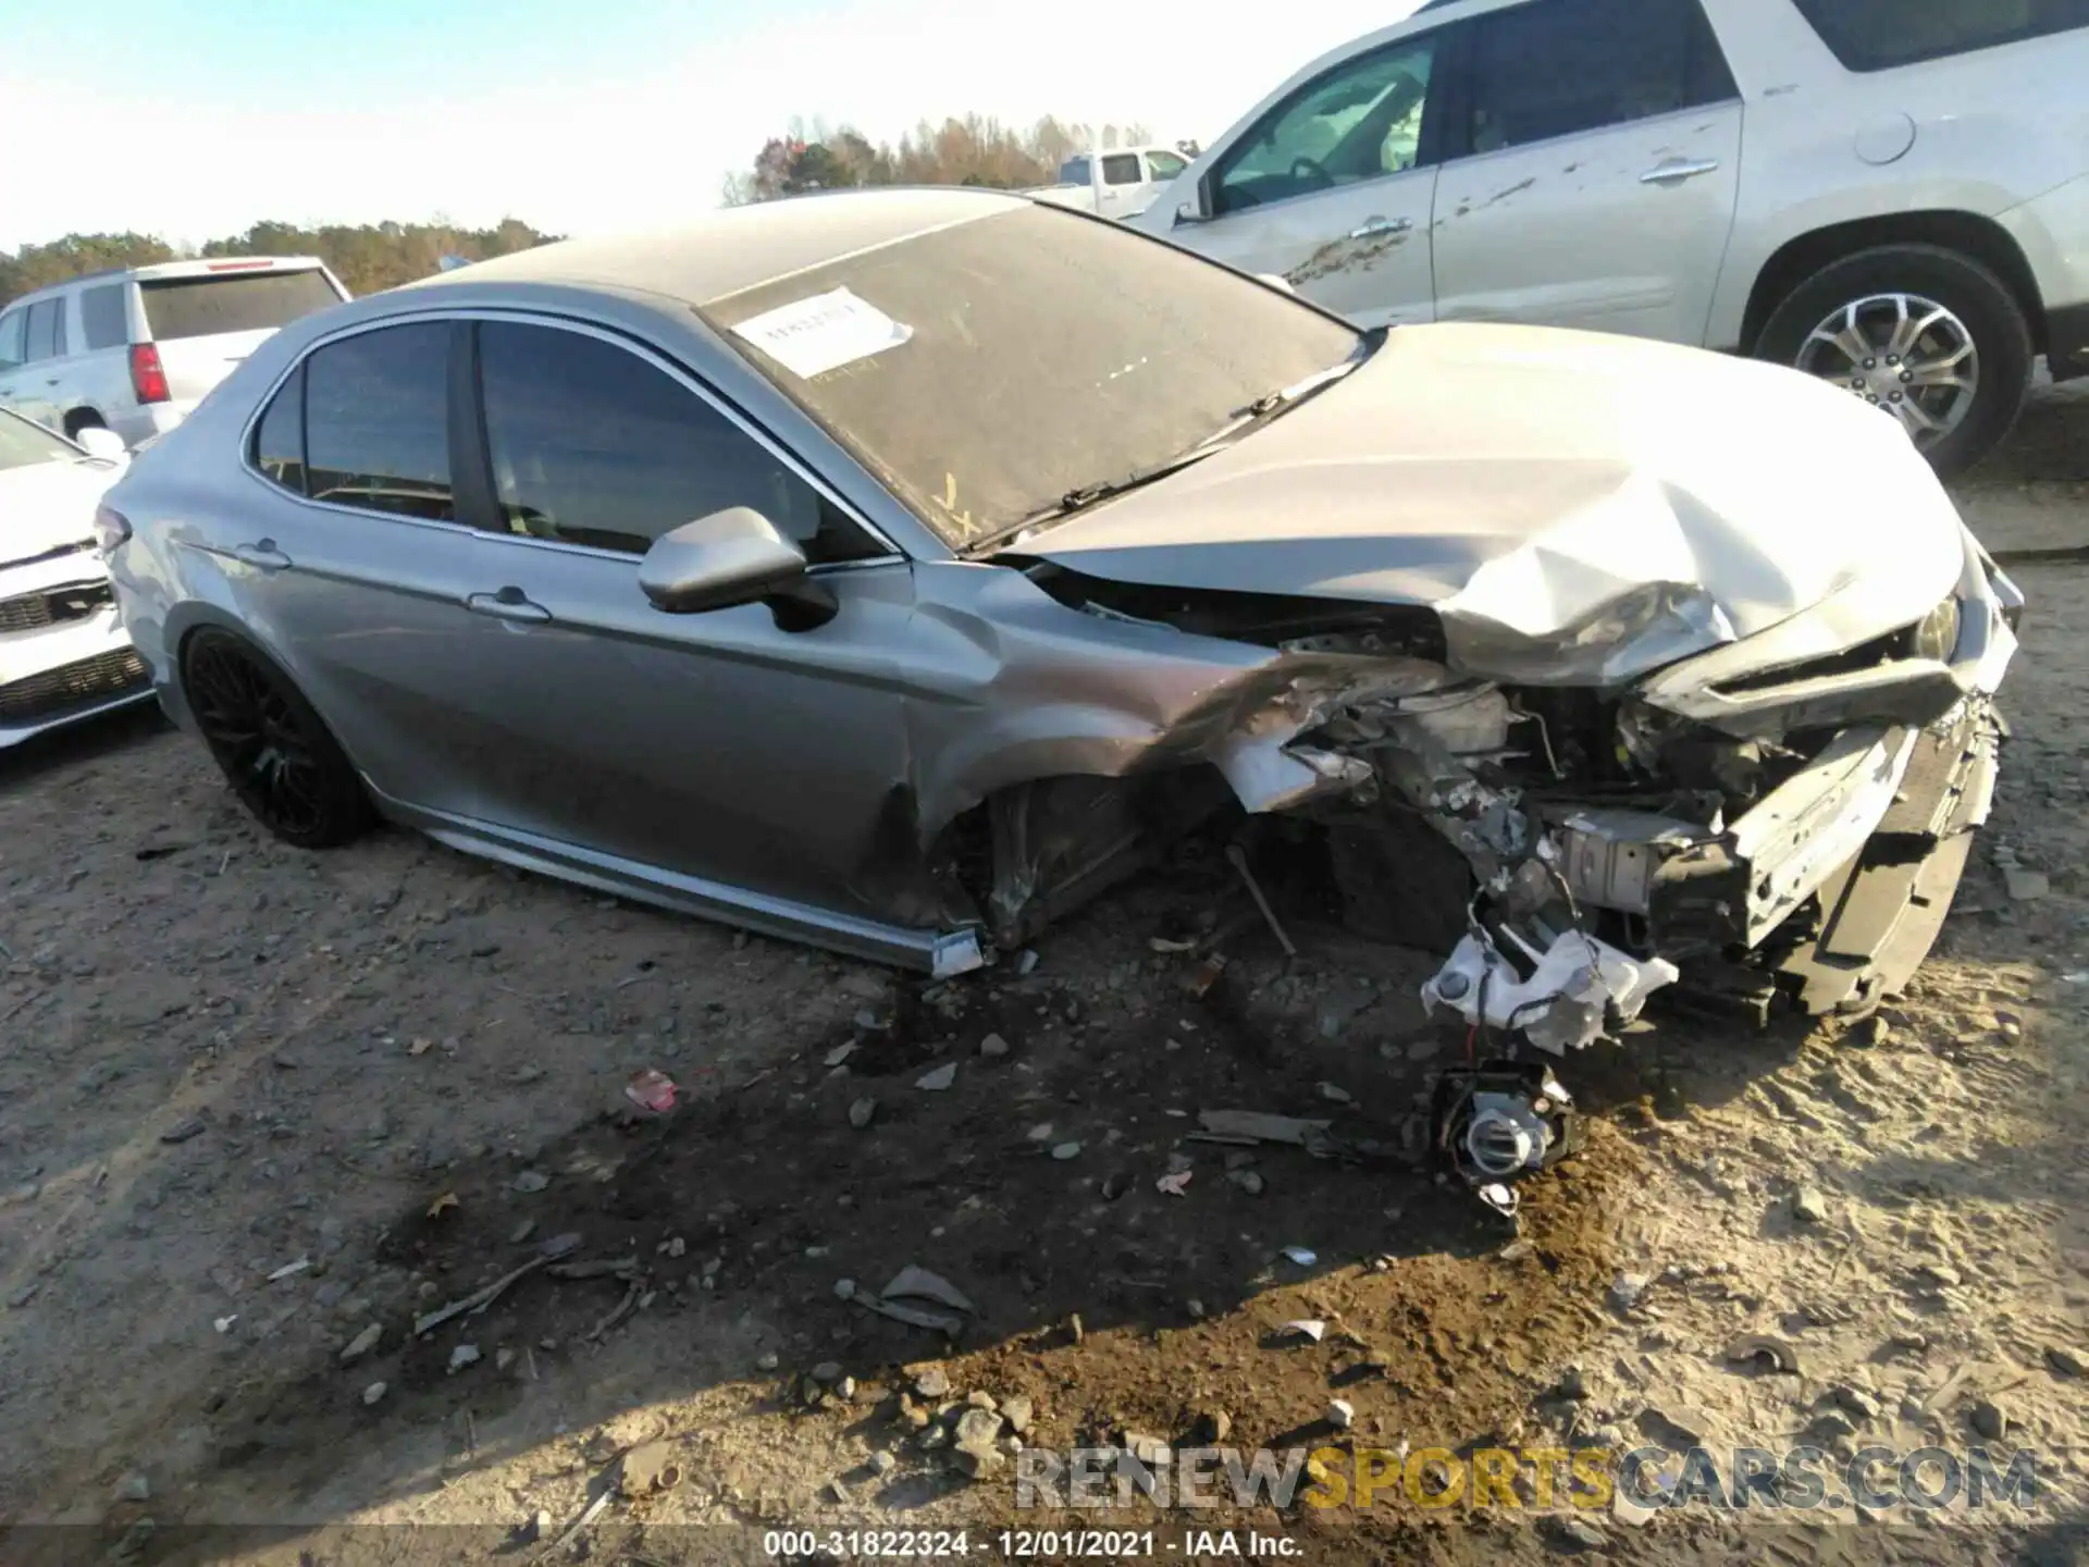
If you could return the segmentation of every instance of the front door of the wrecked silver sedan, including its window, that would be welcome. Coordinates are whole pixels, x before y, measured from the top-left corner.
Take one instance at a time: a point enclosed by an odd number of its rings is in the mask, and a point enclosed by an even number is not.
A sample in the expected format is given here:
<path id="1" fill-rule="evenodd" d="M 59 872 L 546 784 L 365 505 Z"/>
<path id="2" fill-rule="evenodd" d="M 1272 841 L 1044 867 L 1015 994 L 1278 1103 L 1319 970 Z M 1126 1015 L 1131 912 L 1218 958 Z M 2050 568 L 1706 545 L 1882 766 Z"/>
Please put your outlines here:
<path id="1" fill-rule="evenodd" d="M 497 518 L 472 606 L 474 671 L 506 727 L 495 823 L 737 888 L 890 915 L 911 850 L 892 650 L 907 560 L 681 372 L 579 328 L 483 322 Z M 752 506 L 798 539 L 838 614 L 783 631 L 762 604 L 666 614 L 639 558 Z M 905 880 L 905 878 L 902 878 Z"/>

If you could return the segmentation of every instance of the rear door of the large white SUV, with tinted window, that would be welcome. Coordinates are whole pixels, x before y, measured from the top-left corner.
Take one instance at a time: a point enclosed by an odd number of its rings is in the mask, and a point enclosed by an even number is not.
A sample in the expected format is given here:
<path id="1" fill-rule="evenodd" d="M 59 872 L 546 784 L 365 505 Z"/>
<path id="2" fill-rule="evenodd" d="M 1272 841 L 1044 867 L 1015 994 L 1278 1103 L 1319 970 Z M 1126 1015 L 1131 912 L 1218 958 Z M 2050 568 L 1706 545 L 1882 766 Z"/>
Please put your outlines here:
<path id="1" fill-rule="evenodd" d="M 1703 343 L 1742 109 L 1698 0 L 1529 0 L 1469 29 L 1435 192 L 1437 320 Z"/>

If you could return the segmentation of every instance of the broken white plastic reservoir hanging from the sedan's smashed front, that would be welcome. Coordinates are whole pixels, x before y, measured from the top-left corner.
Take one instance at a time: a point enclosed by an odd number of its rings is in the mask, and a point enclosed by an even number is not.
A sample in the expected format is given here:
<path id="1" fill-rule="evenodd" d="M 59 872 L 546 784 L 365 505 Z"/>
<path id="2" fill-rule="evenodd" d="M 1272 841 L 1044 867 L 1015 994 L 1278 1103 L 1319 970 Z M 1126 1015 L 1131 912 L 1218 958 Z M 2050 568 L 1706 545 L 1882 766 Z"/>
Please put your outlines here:
<path id="1" fill-rule="evenodd" d="M 1423 986 L 1423 1007 L 1450 1007 L 1469 1024 L 1485 1020 L 1502 1032 L 1523 1030 L 1538 1049 L 1565 1055 L 1596 1043 L 1613 1011 L 1629 1024 L 1646 997 L 1680 978 L 1663 957 L 1636 959 L 1579 930 L 1544 953 L 1515 932 L 1508 938 L 1535 965 L 1527 980 L 1492 942 L 1471 934 Z"/>

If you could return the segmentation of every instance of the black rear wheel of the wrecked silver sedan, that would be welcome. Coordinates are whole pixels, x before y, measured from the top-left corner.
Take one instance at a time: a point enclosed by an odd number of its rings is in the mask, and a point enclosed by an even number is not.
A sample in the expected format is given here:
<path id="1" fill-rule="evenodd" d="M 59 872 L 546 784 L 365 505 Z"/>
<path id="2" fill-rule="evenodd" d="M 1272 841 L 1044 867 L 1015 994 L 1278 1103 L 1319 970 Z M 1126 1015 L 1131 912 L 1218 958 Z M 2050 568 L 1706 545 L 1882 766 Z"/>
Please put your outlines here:
<path id="1" fill-rule="evenodd" d="M 226 784 L 286 844 L 334 848 L 376 821 L 361 775 L 311 702 L 242 637 L 192 633 L 182 694 Z"/>

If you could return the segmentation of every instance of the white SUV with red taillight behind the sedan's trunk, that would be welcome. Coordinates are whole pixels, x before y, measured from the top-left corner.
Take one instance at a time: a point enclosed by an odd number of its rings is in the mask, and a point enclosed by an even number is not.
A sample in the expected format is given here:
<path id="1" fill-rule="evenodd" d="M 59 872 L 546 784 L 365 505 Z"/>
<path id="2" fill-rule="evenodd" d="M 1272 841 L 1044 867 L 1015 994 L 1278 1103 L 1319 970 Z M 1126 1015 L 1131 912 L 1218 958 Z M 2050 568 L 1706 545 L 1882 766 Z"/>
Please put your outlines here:
<path id="1" fill-rule="evenodd" d="M 136 447 L 171 430 L 278 326 L 349 297 L 318 257 L 96 272 L 0 311 L 0 407 Z"/>

